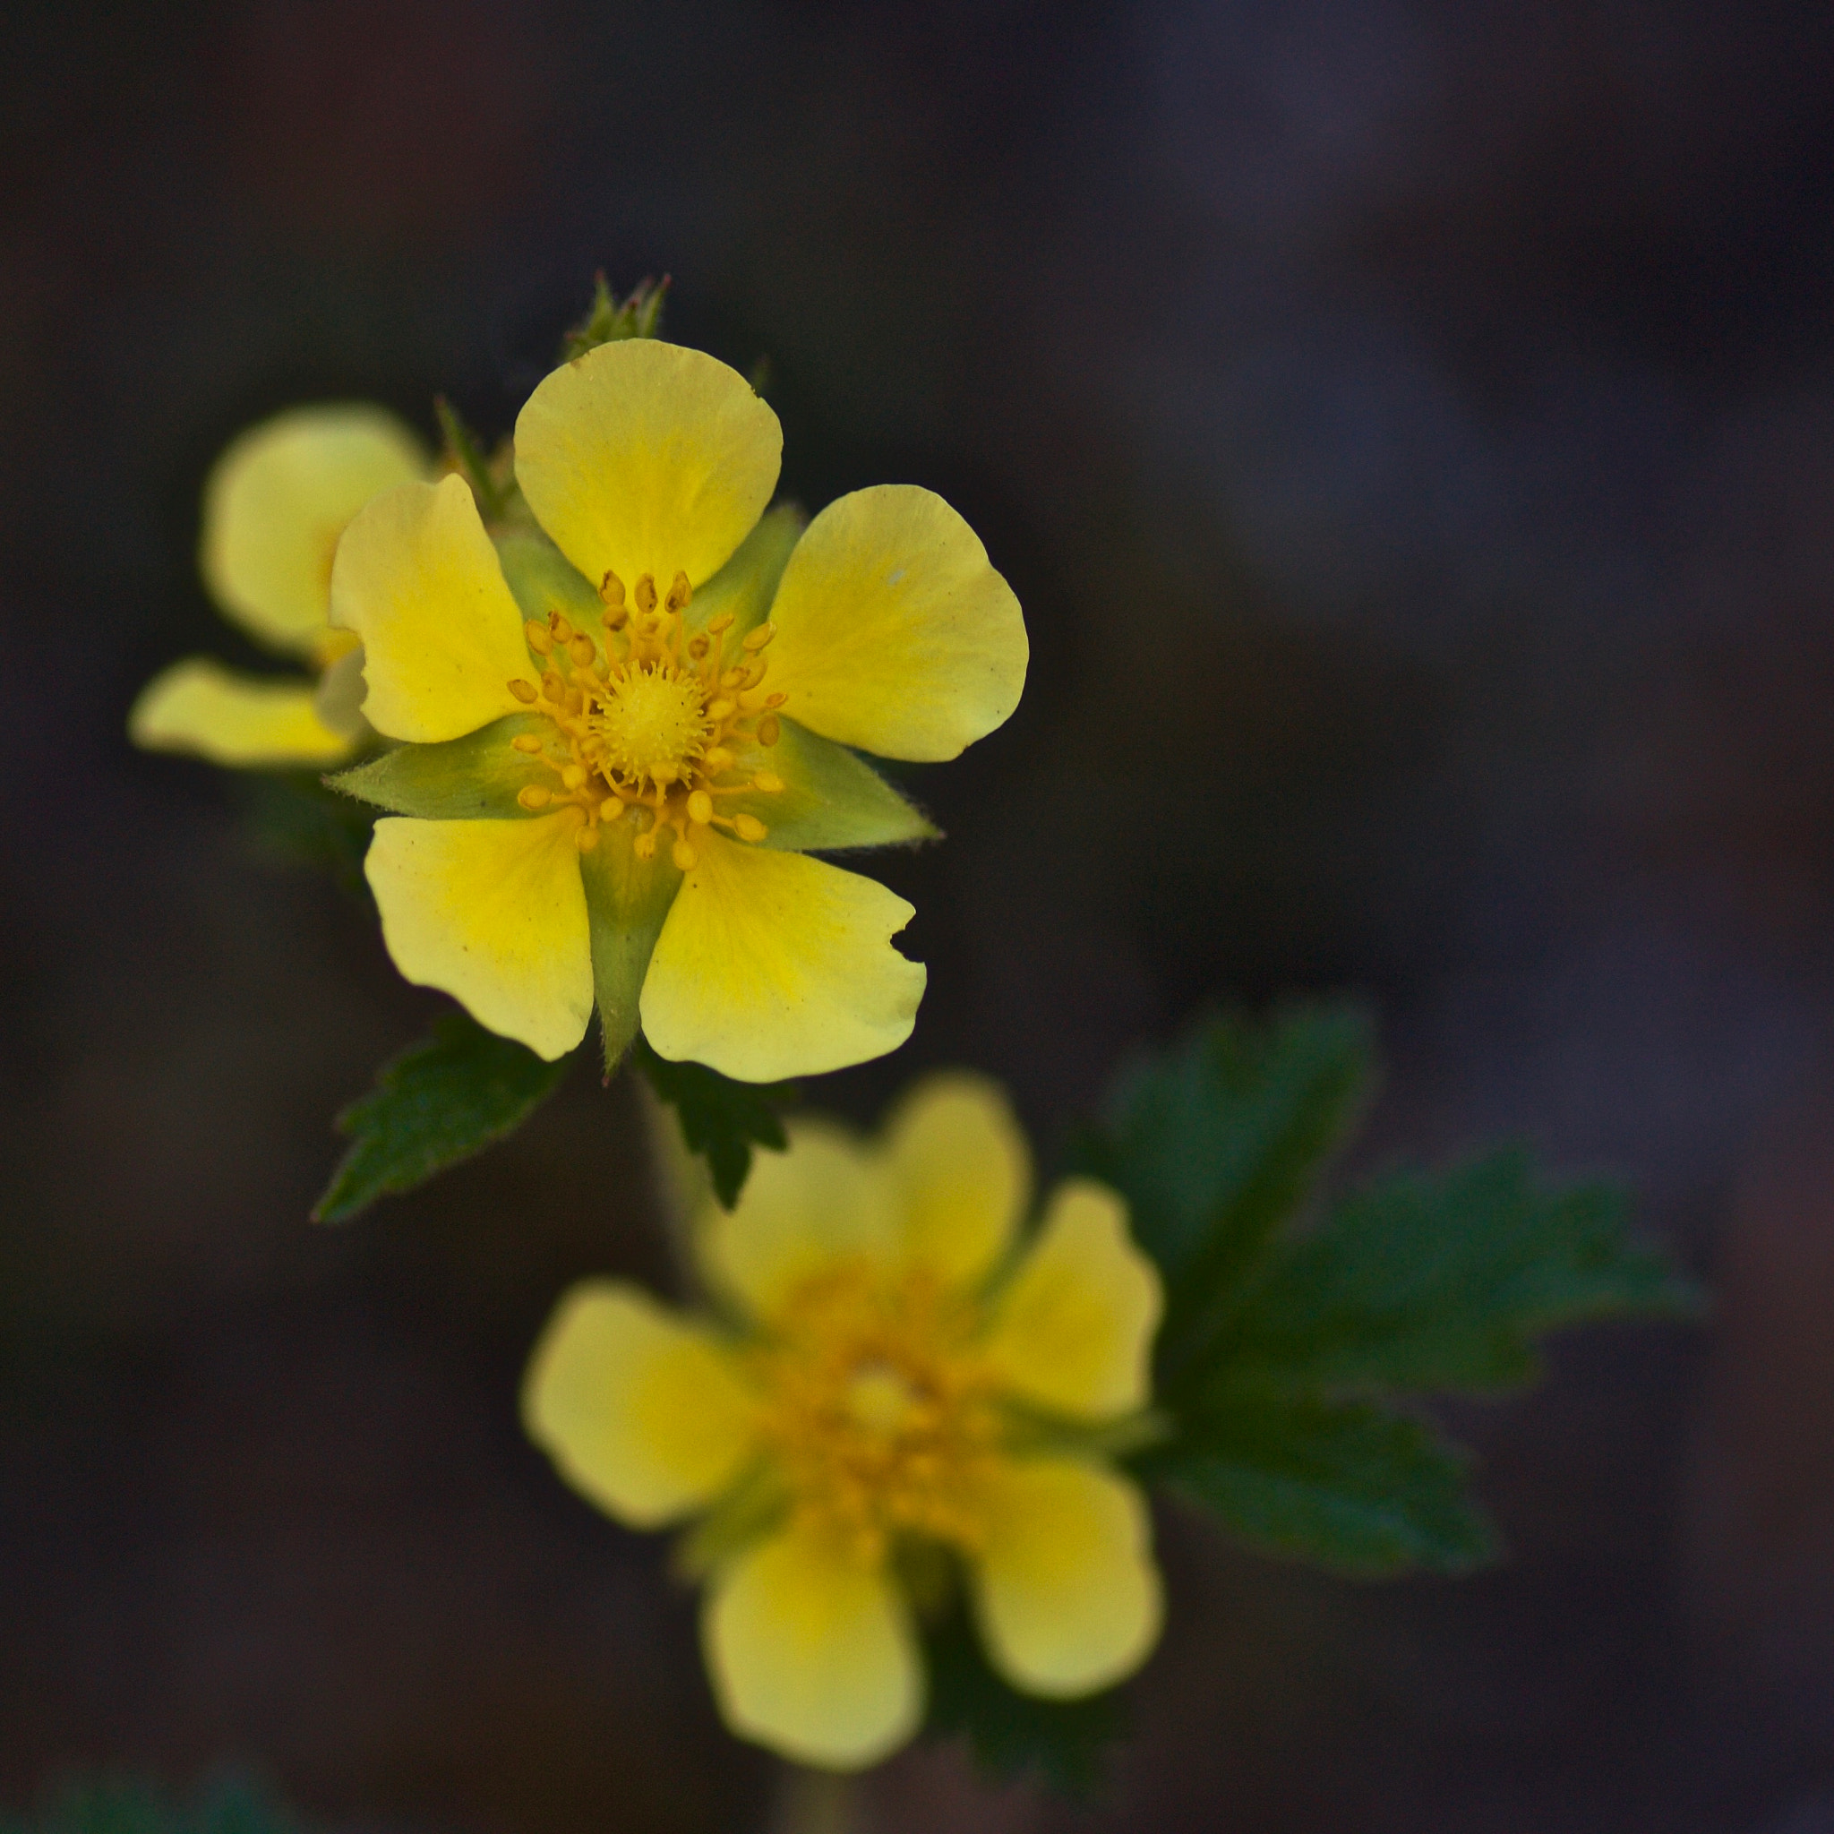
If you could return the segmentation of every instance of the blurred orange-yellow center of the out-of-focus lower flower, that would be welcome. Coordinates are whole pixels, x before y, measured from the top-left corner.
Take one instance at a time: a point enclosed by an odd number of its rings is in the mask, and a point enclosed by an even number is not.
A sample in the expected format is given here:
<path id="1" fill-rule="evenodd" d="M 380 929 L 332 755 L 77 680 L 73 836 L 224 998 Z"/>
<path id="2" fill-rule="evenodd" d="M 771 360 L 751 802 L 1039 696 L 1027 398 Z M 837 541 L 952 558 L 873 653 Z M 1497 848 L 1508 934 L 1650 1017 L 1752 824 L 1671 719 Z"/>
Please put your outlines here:
<path id="1" fill-rule="evenodd" d="M 761 1350 L 763 1431 L 805 1522 L 862 1563 L 899 1537 L 974 1548 L 1003 1431 L 978 1308 L 924 1275 L 807 1280 Z"/>

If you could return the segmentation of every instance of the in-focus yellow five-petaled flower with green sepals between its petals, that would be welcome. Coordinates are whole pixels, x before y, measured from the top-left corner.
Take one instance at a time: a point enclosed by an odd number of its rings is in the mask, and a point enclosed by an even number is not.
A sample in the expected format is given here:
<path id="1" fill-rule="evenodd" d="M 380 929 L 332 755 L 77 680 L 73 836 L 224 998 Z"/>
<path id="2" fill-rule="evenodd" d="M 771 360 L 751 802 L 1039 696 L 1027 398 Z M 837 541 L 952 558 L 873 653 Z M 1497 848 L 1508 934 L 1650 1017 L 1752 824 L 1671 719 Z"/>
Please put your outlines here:
<path id="1" fill-rule="evenodd" d="M 941 497 L 763 514 L 776 414 L 653 339 L 550 374 L 515 424 L 547 532 L 495 547 L 458 479 L 350 525 L 332 622 L 370 724 L 405 741 L 337 783 L 392 811 L 367 873 L 407 979 L 547 1058 L 594 1001 L 614 1062 L 768 1082 L 891 1051 L 924 970 L 911 908 L 811 849 L 932 834 L 847 746 L 945 759 L 1025 680 L 1025 625 Z"/>

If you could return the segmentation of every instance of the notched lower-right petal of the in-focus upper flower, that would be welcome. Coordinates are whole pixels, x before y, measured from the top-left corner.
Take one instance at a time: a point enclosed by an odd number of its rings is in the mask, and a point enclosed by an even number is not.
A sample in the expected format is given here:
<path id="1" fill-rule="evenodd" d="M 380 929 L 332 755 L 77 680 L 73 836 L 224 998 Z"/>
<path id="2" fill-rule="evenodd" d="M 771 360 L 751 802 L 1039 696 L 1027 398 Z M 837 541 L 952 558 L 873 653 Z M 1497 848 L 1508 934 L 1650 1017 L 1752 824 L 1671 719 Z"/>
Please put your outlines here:
<path id="1" fill-rule="evenodd" d="M 662 1056 L 776 1082 L 904 1044 L 924 987 L 891 946 L 915 915 L 904 899 L 800 853 L 712 833 L 697 845 L 644 981 L 644 1034 Z"/>

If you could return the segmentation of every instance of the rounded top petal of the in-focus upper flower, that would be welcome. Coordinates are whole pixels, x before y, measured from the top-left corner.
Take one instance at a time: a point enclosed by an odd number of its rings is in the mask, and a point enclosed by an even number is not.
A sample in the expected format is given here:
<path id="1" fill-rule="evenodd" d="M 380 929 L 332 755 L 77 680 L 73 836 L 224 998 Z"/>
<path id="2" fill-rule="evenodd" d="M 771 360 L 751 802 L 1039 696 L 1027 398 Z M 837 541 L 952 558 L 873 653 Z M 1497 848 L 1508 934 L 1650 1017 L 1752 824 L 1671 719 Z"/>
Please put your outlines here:
<path id="1" fill-rule="evenodd" d="M 515 420 L 523 495 L 592 585 L 712 578 L 770 503 L 781 453 L 737 370 L 653 337 L 561 365 Z"/>

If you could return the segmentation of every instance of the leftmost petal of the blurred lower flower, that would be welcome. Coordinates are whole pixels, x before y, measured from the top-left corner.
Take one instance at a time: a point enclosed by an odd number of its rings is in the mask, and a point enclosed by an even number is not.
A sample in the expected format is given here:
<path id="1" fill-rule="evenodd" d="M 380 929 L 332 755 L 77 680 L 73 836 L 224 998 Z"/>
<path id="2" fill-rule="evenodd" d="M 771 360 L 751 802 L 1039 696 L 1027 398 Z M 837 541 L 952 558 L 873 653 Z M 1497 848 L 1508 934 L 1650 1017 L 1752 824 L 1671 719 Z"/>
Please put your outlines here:
<path id="1" fill-rule="evenodd" d="M 561 1475 L 633 1528 L 712 1502 L 752 1451 L 752 1405 L 704 1326 L 622 1280 L 556 1308 L 523 1383 L 528 1436 Z"/>

